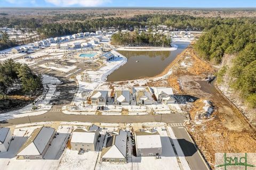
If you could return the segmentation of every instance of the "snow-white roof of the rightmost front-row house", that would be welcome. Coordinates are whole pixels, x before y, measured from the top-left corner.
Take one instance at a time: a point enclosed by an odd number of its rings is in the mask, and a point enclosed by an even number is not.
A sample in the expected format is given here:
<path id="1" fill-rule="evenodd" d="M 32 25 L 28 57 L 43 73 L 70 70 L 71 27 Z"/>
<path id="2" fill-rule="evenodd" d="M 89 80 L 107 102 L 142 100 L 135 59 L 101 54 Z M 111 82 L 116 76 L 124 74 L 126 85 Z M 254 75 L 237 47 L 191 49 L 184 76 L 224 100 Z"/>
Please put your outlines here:
<path id="1" fill-rule="evenodd" d="M 158 132 L 135 132 L 135 142 L 138 149 L 162 148 L 161 137 Z"/>

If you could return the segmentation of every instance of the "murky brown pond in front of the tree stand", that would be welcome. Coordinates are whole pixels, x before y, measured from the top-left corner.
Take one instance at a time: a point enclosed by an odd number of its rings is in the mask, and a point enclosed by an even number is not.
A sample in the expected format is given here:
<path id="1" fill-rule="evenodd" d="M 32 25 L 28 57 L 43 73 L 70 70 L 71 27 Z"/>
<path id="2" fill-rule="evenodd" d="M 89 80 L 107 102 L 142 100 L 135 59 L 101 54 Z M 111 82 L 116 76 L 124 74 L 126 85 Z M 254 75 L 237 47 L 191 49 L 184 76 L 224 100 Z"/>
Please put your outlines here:
<path id="1" fill-rule="evenodd" d="M 154 77 L 164 69 L 189 45 L 188 42 L 177 41 L 173 51 L 118 51 L 127 57 L 127 63 L 107 77 L 107 81 L 125 81 L 145 77 Z"/>

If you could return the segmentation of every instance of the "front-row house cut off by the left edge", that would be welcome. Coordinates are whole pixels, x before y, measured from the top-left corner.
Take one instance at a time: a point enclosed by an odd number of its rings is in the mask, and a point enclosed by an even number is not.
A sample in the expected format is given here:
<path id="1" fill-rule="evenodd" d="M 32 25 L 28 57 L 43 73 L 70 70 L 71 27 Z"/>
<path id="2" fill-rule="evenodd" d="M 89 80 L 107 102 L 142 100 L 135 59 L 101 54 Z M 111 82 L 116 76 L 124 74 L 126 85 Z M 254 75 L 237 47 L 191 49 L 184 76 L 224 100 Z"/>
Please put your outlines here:
<path id="1" fill-rule="evenodd" d="M 6 152 L 12 140 L 10 128 L 0 128 L 0 153 Z"/>

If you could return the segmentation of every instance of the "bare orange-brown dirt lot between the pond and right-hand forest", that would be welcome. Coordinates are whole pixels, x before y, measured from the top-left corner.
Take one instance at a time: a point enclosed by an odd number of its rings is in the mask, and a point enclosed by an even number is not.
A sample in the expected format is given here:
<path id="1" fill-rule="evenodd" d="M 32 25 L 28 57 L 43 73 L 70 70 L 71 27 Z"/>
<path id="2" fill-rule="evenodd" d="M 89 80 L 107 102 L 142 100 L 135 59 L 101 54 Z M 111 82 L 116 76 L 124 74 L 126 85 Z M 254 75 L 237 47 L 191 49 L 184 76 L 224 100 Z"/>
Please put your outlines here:
<path id="1" fill-rule="evenodd" d="M 256 151 L 255 129 L 212 84 L 203 80 L 215 72 L 213 66 L 200 60 L 190 47 L 178 57 L 172 70 L 167 80 L 169 86 L 179 94 L 199 98 L 189 110 L 191 121 L 186 128 L 212 168 L 217 152 Z M 198 121 L 195 115 L 204 111 L 204 100 L 212 101 L 214 112 Z"/>

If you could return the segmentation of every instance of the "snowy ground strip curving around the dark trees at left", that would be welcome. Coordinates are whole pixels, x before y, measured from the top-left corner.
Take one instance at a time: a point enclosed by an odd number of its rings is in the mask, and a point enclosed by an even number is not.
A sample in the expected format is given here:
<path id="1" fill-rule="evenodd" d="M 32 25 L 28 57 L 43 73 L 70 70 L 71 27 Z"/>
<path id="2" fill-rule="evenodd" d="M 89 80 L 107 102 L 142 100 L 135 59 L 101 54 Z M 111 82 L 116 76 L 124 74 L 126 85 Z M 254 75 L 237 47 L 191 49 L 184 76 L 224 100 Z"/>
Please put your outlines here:
<path id="1" fill-rule="evenodd" d="M 49 90 L 46 92 L 45 97 L 39 96 L 35 101 L 35 105 L 33 104 L 28 104 L 27 106 L 17 110 L 17 111 L 12 111 L 12 112 L 6 112 L 2 113 L 0 115 L 0 120 L 7 120 L 10 118 L 15 118 L 15 117 L 25 117 L 25 116 L 34 116 L 34 115 L 40 115 L 48 112 L 51 108 L 52 105 L 49 104 L 51 101 L 52 97 L 55 96 L 55 90 L 56 90 L 56 85 L 60 83 L 60 80 L 54 77 L 51 77 L 50 75 L 42 75 L 42 83 L 44 86 L 44 89 L 47 87 Z M 46 87 L 47 84 L 47 87 Z M 37 107 L 33 111 L 33 107 Z"/>

